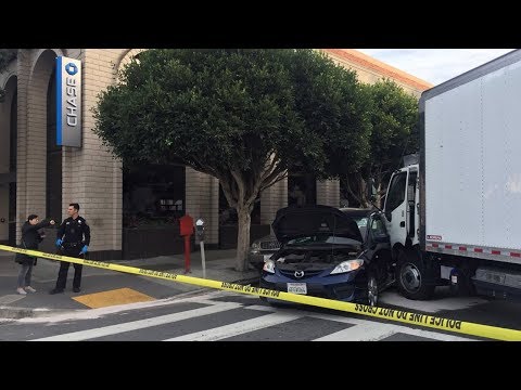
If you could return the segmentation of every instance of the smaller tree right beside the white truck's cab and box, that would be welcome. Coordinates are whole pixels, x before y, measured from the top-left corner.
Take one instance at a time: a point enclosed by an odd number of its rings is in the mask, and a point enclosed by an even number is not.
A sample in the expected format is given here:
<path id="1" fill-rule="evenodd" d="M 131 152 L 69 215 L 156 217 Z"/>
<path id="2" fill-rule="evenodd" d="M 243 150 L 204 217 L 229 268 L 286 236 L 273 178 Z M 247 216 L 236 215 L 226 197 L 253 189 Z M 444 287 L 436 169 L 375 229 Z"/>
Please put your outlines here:
<path id="1" fill-rule="evenodd" d="M 360 207 L 369 206 L 367 179 L 374 179 L 376 204 L 379 205 L 391 173 L 401 167 L 402 157 L 416 152 L 419 146 L 418 100 L 391 80 L 381 80 L 365 88 L 371 99 L 369 155 L 359 170 L 346 171 L 342 176 L 344 191 Z"/>

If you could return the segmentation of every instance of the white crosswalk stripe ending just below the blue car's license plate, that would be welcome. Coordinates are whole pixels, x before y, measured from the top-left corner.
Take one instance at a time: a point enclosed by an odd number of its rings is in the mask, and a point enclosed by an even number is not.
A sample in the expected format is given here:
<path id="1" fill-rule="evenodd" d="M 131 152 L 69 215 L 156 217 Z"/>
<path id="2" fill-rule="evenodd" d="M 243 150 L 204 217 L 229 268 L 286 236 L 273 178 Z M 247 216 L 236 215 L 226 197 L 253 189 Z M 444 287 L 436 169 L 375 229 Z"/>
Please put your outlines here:
<path id="1" fill-rule="evenodd" d="M 302 317 L 302 315 L 289 313 L 272 313 L 256 318 L 240 321 L 225 326 L 195 332 L 189 335 L 174 337 L 164 341 L 215 341 L 267 328 L 269 326 L 283 324 L 293 320 L 297 320 L 300 317 Z"/>

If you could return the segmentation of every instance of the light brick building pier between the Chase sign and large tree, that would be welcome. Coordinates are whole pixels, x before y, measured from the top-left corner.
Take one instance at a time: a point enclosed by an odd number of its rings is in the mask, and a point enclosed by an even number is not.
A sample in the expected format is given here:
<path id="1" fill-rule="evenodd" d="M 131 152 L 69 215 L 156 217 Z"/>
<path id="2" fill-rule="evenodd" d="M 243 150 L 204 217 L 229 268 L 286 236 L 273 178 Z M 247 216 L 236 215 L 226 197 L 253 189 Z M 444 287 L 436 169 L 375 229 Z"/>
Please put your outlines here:
<path id="1" fill-rule="evenodd" d="M 94 134 L 91 108 L 98 93 L 114 83 L 115 63 L 122 49 L 75 49 L 67 56 L 82 63 L 82 145 L 62 148 L 62 218 L 69 203 L 79 203 L 92 232 L 89 247 L 97 260 L 122 257 L 123 172 L 122 161 Z"/>

